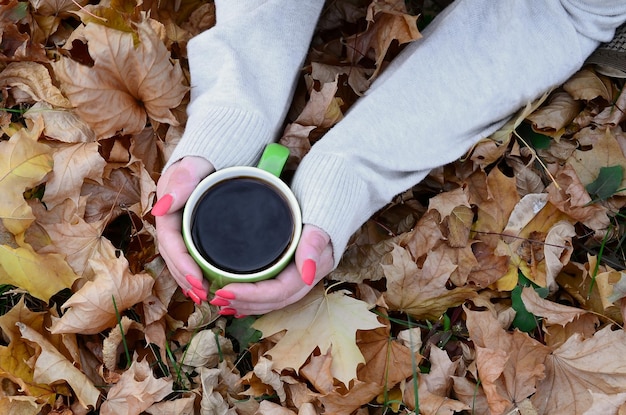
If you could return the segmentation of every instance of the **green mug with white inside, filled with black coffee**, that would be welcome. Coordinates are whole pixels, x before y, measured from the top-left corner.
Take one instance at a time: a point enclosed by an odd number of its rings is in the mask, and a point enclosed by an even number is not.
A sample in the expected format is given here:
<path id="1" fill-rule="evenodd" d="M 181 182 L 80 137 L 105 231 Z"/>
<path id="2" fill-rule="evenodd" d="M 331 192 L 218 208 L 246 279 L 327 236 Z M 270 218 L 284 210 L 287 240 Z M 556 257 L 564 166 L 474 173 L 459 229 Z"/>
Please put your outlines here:
<path id="1" fill-rule="evenodd" d="M 269 144 L 257 167 L 227 167 L 202 180 L 183 210 L 189 254 L 211 292 L 233 282 L 275 277 L 293 258 L 302 215 L 280 174 L 289 149 Z"/>

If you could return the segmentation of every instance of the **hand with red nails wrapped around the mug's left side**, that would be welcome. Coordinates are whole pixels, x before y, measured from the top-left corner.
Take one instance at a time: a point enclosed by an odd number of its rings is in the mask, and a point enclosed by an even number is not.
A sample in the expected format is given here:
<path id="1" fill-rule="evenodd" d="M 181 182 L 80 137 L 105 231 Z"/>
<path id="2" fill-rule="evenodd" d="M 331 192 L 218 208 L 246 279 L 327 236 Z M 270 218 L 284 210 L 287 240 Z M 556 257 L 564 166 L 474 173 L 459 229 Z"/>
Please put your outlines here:
<path id="1" fill-rule="evenodd" d="M 182 211 L 191 192 L 209 174 L 213 165 L 202 157 L 185 157 L 172 164 L 157 183 L 156 220 L 159 253 L 183 293 L 196 304 L 206 301 L 209 284 L 187 252 L 182 237 Z"/>

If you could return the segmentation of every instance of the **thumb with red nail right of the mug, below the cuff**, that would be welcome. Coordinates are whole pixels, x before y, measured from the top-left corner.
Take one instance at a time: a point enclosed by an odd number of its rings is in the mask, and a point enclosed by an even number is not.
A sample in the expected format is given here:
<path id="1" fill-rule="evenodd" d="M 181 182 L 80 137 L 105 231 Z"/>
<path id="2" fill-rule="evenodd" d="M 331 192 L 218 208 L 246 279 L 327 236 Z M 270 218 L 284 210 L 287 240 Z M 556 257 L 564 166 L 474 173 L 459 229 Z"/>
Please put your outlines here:
<path id="1" fill-rule="evenodd" d="M 316 277 L 324 277 L 334 263 L 330 236 L 317 226 L 304 225 L 295 262 L 305 284 L 312 285 Z"/>

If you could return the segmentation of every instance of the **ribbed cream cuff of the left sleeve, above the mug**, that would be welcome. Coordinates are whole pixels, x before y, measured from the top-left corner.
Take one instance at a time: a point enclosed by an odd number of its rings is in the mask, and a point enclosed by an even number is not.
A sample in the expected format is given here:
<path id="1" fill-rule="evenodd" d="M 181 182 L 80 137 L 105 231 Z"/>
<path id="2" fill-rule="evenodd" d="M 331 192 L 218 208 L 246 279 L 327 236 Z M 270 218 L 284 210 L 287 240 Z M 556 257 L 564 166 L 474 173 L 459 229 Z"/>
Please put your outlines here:
<path id="1" fill-rule="evenodd" d="M 257 112 L 213 107 L 191 115 L 163 171 L 187 156 L 203 157 L 216 170 L 257 163 L 272 140 L 269 123 Z"/>

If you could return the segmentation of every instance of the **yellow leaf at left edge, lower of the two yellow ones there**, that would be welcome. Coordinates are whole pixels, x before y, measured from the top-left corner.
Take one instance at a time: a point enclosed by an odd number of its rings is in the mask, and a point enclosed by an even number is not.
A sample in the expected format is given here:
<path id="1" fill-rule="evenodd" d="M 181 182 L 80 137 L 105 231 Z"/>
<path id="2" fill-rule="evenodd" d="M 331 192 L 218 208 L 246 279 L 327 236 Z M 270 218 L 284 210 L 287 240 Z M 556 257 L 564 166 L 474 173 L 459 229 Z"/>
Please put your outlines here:
<path id="1" fill-rule="evenodd" d="M 38 254 L 16 237 L 18 247 L 0 245 L 0 283 L 23 288 L 33 297 L 48 301 L 65 288 L 71 288 L 78 275 L 58 254 Z"/>

